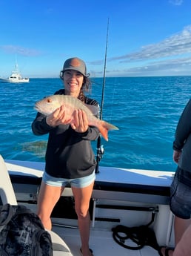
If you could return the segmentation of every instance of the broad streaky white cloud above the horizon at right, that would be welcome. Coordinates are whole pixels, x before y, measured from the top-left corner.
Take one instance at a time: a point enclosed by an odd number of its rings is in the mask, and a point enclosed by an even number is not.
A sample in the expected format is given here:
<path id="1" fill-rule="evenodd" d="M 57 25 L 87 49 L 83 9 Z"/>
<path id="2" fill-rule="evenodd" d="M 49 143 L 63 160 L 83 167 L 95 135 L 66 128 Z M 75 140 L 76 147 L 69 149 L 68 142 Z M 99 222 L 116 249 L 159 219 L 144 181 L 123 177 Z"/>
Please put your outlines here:
<path id="1" fill-rule="evenodd" d="M 161 42 L 144 45 L 133 53 L 108 58 L 107 62 L 110 62 L 110 70 L 107 69 L 110 76 L 191 75 L 191 25 Z M 89 63 L 103 65 L 104 61 Z M 118 66 L 117 70 L 111 68 L 113 65 Z"/>

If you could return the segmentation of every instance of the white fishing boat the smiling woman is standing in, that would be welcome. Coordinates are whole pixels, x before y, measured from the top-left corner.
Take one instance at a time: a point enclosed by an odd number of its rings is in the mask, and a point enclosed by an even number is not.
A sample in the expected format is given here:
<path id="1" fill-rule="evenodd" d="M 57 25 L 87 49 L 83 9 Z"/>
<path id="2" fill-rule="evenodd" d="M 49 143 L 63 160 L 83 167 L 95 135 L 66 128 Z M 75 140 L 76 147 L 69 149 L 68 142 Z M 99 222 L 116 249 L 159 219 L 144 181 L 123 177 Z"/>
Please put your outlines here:
<path id="1" fill-rule="evenodd" d="M 44 163 L 4 160 L 18 204 L 36 211 Z M 0 163 L 1 165 L 1 163 Z M 1 168 L 0 168 L 1 171 Z M 150 245 L 140 249 L 122 233 L 120 243 L 114 237 L 118 226 L 127 229 L 147 226 L 155 233 L 159 246 L 174 246 L 173 221 L 170 211 L 170 184 L 174 172 L 99 166 L 90 201 L 90 248 L 93 255 L 156 256 Z M 2 174 L 1 174 L 2 179 Z M 0 193 L 7 188 L 1 188 Z M 8 192 L 11 190 L 7 188 Z M 3 192 L 4 194 L 4 192 Z M 51 216 L 53 232 L 61 237 L 69 252 L 60 255 L 80 255 L 80 237 L 70 187 L 64 189 Z M 146 234 L 145 234 L 146 235 Z"/>

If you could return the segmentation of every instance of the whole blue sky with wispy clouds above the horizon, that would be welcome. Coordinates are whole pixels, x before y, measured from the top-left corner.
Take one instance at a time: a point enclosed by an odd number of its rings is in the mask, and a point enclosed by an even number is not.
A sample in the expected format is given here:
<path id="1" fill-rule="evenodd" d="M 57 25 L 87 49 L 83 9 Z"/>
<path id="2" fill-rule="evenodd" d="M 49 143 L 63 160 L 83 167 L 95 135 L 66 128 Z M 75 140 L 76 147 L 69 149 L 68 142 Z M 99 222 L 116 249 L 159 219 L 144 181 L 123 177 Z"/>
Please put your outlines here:
<path id="1" fill-rule="evenodd" d="M 0 0 L 0 76 L 58 77 L 78 56 L 91 76 L 191 76 L 190 0 Z"/>

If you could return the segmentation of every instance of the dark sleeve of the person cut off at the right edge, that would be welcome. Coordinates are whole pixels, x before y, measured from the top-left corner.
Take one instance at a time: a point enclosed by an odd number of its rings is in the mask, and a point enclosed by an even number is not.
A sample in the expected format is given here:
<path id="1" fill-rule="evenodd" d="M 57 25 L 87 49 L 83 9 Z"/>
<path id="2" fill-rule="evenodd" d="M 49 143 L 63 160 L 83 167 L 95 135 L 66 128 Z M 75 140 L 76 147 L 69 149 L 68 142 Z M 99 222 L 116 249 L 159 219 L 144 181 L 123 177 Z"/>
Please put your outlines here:
<path id="1" fill-rule="evenodd" d="M 191 99 L 187 103 L 181 117 L 178 121 L 178 125 L 175 131 L 175 140 L 173 142 L 173 149 L 175 151 L 181 151 L 184 143 L 187 141 L 191 133 Z"/>

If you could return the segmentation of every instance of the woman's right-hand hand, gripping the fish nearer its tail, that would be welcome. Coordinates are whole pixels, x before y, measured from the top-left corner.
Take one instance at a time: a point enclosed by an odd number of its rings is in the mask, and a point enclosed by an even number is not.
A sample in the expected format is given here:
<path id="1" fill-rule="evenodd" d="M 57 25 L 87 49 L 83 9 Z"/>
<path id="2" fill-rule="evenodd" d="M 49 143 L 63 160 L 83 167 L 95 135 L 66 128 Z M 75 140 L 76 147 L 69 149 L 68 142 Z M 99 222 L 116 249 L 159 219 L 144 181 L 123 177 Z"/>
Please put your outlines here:
<path id="1" fill-rule="evenodd" d="M 89 125 L 87 121 L 87 115 L 81 109 L 78 109 L 73 114 L 73 122 L 70 124 L 73 130 L 84 133 L 87 131 Z"/>

